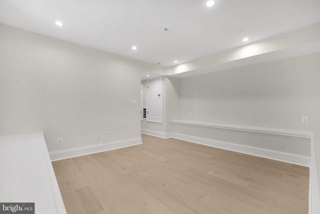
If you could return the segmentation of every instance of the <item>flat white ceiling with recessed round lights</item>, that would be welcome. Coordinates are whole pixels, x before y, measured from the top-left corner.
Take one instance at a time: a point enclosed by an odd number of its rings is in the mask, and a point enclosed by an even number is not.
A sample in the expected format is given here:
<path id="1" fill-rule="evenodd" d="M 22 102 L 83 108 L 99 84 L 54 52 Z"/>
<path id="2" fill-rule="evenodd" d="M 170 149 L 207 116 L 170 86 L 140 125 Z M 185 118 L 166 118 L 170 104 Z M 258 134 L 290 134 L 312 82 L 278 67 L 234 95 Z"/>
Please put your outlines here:
<path id="1" fill-rule="evenodd" d="M 319 0 L 214 2 L 208 8 L 206 0 L 0 0 L 0 23 L 172 66 L 320 22 Z"/>

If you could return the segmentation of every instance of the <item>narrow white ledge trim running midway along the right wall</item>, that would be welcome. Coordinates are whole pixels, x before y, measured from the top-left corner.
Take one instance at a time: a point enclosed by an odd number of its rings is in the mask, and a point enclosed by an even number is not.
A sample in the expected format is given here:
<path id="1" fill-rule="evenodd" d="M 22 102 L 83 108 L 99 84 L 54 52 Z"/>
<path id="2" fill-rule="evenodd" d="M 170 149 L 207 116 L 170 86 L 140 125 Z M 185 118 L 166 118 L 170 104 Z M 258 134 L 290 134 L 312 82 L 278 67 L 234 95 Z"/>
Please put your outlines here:
<path id="1" fill-rule="evenodd" d="M 308 139 L 311 139 L 311 136 L 313 136 L 313 132 L 303 131 L 303 130 L 278 129 L 278 128 L 231 125 L 231 124 L 220 124 L 220 123 L 206 123 L 206 122 L 186 121 L 186 120 L 171 120 L 171 123 L 182 124 L 182 125 L 192 125 L 192 126 L 202 126 L 202 127 L 209 127 L 209 128 L 218 128 L 218 129 L 227 129 L 227 130 L 235 130 L 235 131 L 255 132 L 255 133 L 262 133 L 262 134 L 301 137 L 301 138 L 308 138 Z"/>

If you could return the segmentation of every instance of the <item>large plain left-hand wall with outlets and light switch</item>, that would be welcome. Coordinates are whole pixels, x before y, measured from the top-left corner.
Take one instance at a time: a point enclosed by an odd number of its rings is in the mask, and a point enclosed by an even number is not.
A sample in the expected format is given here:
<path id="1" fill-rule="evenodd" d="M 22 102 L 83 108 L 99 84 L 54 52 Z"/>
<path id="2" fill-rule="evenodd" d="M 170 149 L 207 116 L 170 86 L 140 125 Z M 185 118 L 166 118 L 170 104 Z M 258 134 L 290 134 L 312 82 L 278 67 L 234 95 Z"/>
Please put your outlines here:
<path id="1" fill-rule="evenodd" d="M 140 72 L 157 66 L 5 25 L 0 47 L 0 135 L 43 132 L 49 151 L 140 137 Z"/>

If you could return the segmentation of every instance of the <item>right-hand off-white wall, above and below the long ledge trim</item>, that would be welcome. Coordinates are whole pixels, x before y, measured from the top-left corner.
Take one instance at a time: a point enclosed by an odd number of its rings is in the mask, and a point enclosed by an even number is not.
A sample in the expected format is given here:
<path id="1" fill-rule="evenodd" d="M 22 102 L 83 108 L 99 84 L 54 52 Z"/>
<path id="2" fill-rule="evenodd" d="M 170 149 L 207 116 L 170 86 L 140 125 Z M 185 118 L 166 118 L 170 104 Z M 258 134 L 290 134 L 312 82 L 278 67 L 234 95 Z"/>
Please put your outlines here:
<path id="1" fill-rule="evenodd" d="M 180 79 L 179 119 L 317 131 L 319 68 L 320 54 L 312 54 Z M 308 116 L 309 123 L 301 123 L 301 116 Z M 309 141 L 301 138 L 183 125 L 175 131 L 310 155 Z"/>

